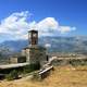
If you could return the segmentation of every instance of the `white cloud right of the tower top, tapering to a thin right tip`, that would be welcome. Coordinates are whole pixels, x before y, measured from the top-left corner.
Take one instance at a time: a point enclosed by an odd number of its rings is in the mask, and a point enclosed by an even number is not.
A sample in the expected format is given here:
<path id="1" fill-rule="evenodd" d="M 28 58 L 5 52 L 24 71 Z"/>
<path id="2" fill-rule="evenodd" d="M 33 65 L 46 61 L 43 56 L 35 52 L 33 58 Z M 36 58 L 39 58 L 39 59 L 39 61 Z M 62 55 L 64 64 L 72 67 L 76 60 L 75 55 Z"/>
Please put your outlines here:
<path id="1" fill-rule="evenodd" d="M 39 30 L 40 36 L 57 36 L 76 30 L 76 27 L 60 26 L 54 17 L 46 17 L 38 23 L 33 22 L 30 25 L 30 28 Z"/>

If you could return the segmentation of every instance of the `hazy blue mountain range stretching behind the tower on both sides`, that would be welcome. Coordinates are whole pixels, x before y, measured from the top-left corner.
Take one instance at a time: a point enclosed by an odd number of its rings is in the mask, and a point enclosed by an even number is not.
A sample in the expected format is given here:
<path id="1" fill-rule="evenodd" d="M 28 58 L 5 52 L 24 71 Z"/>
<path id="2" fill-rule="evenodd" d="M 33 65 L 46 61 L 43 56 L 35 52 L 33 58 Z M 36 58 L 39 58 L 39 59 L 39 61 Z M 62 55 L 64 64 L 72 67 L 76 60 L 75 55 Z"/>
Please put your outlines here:
<path id="1" fill-rule="evenodd" d="M 87 36 L 76 37 L 41 37 L 39 45 L 46 46 L 49 52 L 80 52 L 87 53 Z M 0 51 L 20 52 L 28 46 L 28 40 L 4 41 Z"/>

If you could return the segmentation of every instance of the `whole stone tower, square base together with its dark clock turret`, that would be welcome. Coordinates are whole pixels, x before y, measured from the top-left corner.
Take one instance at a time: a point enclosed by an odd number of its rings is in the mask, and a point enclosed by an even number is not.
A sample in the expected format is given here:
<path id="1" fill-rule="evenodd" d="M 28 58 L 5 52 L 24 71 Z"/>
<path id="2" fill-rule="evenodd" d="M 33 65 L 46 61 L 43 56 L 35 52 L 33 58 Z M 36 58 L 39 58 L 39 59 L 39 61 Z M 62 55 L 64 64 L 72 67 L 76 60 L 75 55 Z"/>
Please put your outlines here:
<path id="1" fill-rule="evenodd" d="M 34 64 L 40 63 L 40 65 L 47 62 L 46 48 L 38 46 L 38 30 L 28 32 L 29 46 L 23 49 L 23 53 L 26 57 L 26 62 Z"/>

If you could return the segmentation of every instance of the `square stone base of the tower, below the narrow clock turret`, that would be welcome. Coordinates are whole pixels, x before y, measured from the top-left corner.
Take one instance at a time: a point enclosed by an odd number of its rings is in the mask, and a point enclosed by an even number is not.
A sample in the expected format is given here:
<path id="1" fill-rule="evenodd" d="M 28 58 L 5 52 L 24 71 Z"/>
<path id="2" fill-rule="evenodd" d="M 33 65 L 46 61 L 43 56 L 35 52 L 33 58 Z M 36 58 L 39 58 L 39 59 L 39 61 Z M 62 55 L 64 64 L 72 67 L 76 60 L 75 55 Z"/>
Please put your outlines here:
<path id="1" fill-rule="evenodd" d="M 32 46 L 26 49 L 26 62 L 44 64 L 46 61 L 46 48 L 39 46 Z"/>

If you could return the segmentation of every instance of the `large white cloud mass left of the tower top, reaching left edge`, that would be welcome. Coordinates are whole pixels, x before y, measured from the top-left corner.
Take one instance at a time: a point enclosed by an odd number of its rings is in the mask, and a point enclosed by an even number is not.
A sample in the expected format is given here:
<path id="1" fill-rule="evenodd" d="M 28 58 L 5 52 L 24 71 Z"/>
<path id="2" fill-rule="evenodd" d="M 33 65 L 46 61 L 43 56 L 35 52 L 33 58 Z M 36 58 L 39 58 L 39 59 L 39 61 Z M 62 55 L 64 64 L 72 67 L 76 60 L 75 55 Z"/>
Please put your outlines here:
<path id="1" fill-rule="evenodd" d="M 21 39 L 28 30 L 27 17 L 29 12 L 13 13 L 9 17 L 1 21 L 0 34 L 4 34 L 5 39 Z M 9 36 L 9 38 L 7 38 Z M 3 39 L 4 39 L 3 38 Z"/>

